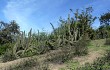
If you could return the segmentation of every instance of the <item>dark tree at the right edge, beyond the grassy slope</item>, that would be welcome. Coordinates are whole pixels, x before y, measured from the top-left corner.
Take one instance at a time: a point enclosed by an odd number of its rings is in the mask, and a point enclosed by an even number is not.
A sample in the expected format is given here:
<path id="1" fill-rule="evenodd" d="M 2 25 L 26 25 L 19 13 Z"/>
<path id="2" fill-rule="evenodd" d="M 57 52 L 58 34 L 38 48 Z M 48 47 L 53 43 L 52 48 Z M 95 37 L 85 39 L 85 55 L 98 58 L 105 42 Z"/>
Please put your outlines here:
<path id="1" fill-rule="evenodd" d="M 110 37 L 110 12 L 104 13 L 100 16 L 100 33 L 102 38 Z"/>

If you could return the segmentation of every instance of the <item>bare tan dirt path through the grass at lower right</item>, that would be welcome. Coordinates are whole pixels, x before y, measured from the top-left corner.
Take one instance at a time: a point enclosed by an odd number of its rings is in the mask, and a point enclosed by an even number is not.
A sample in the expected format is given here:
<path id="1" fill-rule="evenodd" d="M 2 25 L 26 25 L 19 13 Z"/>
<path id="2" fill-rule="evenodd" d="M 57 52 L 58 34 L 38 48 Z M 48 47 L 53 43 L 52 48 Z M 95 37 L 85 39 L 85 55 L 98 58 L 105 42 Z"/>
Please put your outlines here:
<path id="1" fill-rule="evenodd" d="M 98 57 L 102 57 L 104 55 L 104 50 L 91 51 L 87 56 L 80 56 L 73 58 L 74 61 L 79 62 L 79 66 L 84 65 L 85 63 L 92 63 Z M 59 70 L 60 68 L 65 68 L 67 64 L 51 64 L 51 70 Z"/>

